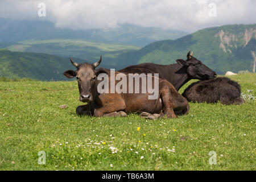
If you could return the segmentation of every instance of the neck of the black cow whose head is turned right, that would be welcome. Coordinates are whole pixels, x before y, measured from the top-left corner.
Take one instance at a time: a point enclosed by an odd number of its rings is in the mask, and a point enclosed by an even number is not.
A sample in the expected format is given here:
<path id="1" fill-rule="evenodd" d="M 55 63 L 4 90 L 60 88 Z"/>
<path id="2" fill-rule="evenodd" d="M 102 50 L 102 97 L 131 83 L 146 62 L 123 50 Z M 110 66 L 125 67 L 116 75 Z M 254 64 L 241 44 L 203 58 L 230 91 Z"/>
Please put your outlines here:
<path id="1" fill-rule="evenodd" d="M 179 64 L 170 64 L 165 69 L 168 71 L 167 80 L 174 85 L 176 90 L 179 90 L 181 86 L 191 80 L 191 77 L 187 74 L 187 67 L 182 67 Z"/>

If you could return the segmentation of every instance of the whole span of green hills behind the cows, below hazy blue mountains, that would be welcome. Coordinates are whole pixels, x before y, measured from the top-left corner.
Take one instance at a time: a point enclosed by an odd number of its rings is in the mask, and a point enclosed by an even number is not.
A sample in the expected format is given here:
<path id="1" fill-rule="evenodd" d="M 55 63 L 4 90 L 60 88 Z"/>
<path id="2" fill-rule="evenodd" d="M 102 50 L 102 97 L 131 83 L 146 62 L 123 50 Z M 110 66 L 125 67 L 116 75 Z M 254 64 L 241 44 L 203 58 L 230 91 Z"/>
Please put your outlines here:
<path id="1" fill-rule="evenodd" d="M 176 59 L 186 59 L 189 50 L 222 75 L 226 71 L 255 70 L 256 24 L 205 28 L 176 40 L 152 42 L 142 48 L 70 37 L 2 41 L 0 48 L 0 76 L 11 78 L 65 80 L 61 73 L 73 69 L 69 56 L 78 63 L 86 60 L 92 63 L 102 55 L 101 67 L 117 70 L 139 63 L 174 64 Z"/>

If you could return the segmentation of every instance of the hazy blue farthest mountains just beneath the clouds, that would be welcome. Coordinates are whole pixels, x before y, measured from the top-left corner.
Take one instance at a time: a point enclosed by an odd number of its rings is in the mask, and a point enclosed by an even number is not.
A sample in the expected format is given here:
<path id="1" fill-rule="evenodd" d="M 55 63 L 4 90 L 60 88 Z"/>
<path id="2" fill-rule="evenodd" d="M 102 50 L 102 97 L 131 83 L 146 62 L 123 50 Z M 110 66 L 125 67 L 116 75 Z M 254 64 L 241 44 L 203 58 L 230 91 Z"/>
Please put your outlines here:
<path id="1" fill-rule="evenodd" d="M 10 20 L 0 18 L 0 42 L 24 40 L 80 39 L 91 42 L 146 46 L 157 40 L 177 39 L 188 33 L 123 24 L 109 30 L 71 30 L 56 28 L 46 20 Z"/>

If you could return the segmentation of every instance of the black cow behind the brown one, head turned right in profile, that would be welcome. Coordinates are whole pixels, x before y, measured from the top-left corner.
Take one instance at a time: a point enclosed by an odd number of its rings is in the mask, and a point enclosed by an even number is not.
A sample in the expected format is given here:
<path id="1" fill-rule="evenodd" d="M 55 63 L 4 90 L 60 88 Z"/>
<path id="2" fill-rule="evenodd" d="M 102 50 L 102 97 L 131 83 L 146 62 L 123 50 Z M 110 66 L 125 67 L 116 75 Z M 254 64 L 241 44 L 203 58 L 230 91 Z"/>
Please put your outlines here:
<path id="1" fill-rule="evenodd" d="M 118 72 L 122 73 L 159 73 L 159 78 L 166 79 L 176 90 L 191 79 L 209 80 L 215 78 L 217 73 L 212 71 L 200 60 L 193 57 L 193 52 L 189 51 L 187 60 L 177 59 L 177 64 L 160 65 L 154 63 L 143 63 L 131 65 Z"/>

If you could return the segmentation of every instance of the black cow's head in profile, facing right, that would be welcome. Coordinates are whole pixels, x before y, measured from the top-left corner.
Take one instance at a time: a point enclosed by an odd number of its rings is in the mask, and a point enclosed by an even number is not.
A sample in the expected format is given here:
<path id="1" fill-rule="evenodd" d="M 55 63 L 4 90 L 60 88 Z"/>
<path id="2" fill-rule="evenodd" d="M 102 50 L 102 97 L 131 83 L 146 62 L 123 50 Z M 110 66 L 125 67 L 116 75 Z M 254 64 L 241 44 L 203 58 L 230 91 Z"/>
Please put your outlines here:
<path id="1" fill-rule="evenodd" d="M 209 80 L 215 78 L 217 73 L 208 68 L 201 61 L 193 57 L 193 51 L 187 54 L 187 60 L 177 59 L 176 62 L 187 68 L 187 74 L 193 79 Z"/>

